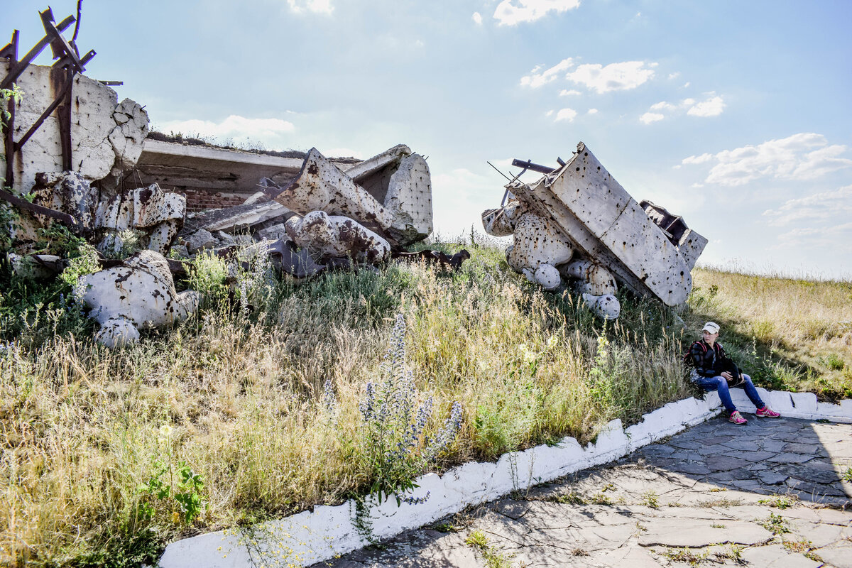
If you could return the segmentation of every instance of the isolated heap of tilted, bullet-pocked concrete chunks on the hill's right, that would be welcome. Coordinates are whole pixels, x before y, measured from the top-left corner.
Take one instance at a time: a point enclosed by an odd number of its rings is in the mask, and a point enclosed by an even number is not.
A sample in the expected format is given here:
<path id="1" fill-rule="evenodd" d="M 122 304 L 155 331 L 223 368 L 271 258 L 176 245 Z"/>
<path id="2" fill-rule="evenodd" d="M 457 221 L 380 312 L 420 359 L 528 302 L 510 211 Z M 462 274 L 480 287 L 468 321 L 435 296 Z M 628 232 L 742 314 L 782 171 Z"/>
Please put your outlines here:
<path id="1" fill-rule="evenodd" d="M 516 176 L 505 186 L 508 202 L 482 213 L 488 234 L 514 236 L 509 266 L 545 290 L 565 278 L 602 318 L 619 317 L 618 284 L 666 306 L 682 305 L 707 239 L 681 217 L 651 202 L 637 204 L 582 142 L 560 164 L 550 169 L 515 160 L 544 176 L 532 185 Z"/>

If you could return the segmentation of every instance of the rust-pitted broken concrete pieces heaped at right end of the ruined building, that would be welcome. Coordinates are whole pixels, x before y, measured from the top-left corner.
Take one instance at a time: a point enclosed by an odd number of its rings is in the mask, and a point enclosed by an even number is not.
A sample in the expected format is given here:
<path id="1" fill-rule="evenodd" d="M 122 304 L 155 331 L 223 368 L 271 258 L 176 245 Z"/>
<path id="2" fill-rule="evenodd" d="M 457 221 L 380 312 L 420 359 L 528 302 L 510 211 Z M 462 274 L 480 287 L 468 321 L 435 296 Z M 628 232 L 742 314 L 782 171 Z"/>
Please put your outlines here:
<path id="1" fill-rule="evenodd" d="M 320 265 L 377 264 L 432 232 L 429 166 L 408 146 L 345 170 L 313 148 L 287 185 L 263 178 L 258 186 L 245 204 L 187 218 L 178 235 L 187 253 L 253 238 L 291 243 Z"/>

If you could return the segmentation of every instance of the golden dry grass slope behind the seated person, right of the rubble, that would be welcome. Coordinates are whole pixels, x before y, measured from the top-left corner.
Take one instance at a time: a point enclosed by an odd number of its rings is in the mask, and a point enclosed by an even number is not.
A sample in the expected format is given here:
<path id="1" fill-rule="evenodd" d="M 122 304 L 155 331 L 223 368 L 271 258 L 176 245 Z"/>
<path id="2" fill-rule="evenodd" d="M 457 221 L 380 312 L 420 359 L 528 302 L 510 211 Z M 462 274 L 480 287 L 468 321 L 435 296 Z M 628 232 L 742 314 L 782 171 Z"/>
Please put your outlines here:
<path id="1" fill-rule="evenodd" d="M 722 324 L 722 340 L 757 368 L 764 386 L 852 397 L 852 282 L 707 268 L 693 278 L 694 321 Z"/>

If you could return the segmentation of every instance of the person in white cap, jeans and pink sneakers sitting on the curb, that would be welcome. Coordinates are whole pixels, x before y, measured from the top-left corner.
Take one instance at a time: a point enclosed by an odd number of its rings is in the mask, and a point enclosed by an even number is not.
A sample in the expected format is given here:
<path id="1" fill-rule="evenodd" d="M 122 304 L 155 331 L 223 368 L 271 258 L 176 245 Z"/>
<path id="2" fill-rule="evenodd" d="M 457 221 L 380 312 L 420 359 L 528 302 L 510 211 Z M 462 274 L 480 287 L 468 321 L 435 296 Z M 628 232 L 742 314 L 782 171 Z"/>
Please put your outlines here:
<path id="1" fill-rule="evenodd" d="M 719 393 L 719 399 L 728 410 L 728 421 L 734 424 L 748 422 L 734 406 L 728 387 L 743 387 L 748 398 L 757 407 L 757 416 L 764 418 L 780 416 L 760 399 L 757 389 L 751 383 L 751 377 L 741 373 L 734 362 L 725 355 L 722 344 L 716 341 L 719 337 L 719 324 L 707 322 L 701 331 L 701 341 L 695 341 L 689 348 L 689 356 L 694 364 L 691 378 L 705 391 Z"/>

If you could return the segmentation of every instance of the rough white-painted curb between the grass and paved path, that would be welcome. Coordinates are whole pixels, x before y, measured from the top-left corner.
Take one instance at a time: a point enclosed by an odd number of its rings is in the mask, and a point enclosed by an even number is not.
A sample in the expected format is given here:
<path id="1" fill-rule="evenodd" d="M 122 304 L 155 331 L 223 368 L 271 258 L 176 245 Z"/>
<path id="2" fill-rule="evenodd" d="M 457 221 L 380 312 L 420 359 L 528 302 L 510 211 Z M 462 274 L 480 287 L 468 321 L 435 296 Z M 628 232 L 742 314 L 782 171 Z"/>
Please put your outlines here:
<path id="1" fill-rule="evenodd" d="M 813 393 L 770 392 L 763 388 L 757 391 L 781 416 L 852 423 L 852 399 L 826 404 L 818 403 Z M 755 411 L 742 389 L 732 389 L 731 398 L 740 410 Z M 427 502 L 403 503 L 400 507 L 394 500 L 381 505 L 371 502 L 372 534 L 377 539 L 389 538 L 458 513 L 469 505 L 493 501 L 510 491 L 612 462 L 644 445 L 705 422 L 720 410 L 718 394 L 707 393 L 704 400 L 689 398 L 666 404 L 627 429 L 622 427 L 621 420 L 613 420 L 598 434 L 595 444 L 586 447 L 566 437 L 557 445 L 539 445 L 504 454 L 496 463 L 469 462 L 441 476 L 427 473 L 417 478 L 420 488 L 413 494 L 422 497 L 429 493 Z M 252 531 L 239 534 L 218 531 L 172 542 L 159 565 L 162 568 L 311 565 L 368 544 L 356 530 L 354 518 L 352 500 L 335 507 L 320 505 L 313 512 L 303 511 L 256 525 Z"/>

